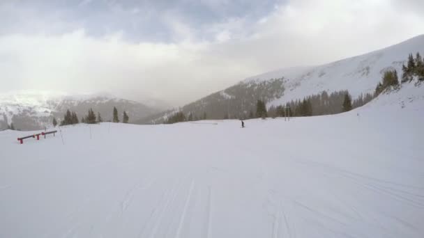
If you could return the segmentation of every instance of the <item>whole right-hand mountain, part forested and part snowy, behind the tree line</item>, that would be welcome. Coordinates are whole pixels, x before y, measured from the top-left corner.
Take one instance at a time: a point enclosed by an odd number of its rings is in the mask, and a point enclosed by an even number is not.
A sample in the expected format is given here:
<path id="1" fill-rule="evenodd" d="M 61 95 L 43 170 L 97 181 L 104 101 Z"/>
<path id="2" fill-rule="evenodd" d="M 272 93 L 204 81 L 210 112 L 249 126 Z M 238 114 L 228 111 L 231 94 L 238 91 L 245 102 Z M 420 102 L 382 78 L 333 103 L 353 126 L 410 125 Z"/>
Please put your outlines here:
<path id="1" fill-rule="evenodd" d="M 424 35 L 333 63 L 285 68 L 249 77 L 180 109 L 158 113 L 137 122 L 164 122 L 175 111 L 183 111 L 186 115 L 193 113 L 198 118 L 202 118 L 205 112 L 210 119 L 246 118 L 250 111 L 255 112 L 257 100 L 264 100 L 268 107 L 278 106 L 323 91 L 330 94 L 349 90 L 356 99 L 361 94 L 373 93 L 384 72 L 397 70 L 400 77 L 402 64 L 406 63 L 408 55 L 418 51 L 424 54 Z"/>

